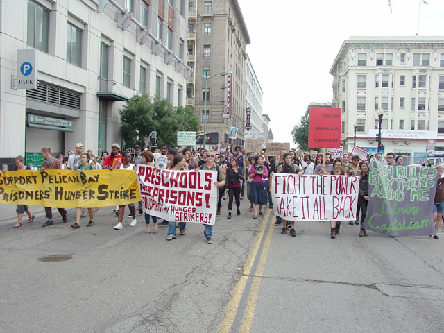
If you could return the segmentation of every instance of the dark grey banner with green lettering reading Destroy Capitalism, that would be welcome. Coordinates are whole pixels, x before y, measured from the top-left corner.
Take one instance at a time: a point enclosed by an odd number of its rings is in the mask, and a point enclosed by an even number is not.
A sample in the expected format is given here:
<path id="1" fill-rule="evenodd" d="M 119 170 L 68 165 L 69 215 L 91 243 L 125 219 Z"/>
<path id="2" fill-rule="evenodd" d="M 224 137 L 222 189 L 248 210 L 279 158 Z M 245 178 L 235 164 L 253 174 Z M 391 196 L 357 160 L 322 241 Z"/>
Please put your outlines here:
<path id="1" fill-rule="evenodd" d="M 435 234 L 433 217 L 437 171 L 389 166 L 375 158 L 368 171 L 368 210 L 362 228 L 389 236 Z"/>

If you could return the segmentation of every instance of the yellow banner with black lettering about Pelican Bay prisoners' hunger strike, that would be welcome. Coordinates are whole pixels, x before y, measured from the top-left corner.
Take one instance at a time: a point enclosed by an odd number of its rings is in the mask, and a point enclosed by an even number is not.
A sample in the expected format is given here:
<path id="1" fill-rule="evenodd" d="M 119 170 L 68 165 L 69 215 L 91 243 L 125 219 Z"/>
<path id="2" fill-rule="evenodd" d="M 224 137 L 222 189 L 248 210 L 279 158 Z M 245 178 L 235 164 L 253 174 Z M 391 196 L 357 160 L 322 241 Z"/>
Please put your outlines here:
<path id="1" fill-rule="evenodd" d="M 103 207 L 140 200 L 137 175 L 128 170 L 0 172 L 0 203 L 46 207 Z"/>

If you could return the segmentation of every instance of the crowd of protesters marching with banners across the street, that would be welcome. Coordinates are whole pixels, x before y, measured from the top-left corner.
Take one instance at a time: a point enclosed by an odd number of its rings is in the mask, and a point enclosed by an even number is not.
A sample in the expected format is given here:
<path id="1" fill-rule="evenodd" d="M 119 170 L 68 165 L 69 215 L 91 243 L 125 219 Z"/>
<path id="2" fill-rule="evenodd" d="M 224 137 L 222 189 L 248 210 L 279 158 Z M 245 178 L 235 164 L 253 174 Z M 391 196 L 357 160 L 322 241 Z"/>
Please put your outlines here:
<path id="1" fill-rule="evenodd" d="M 368 161 L 360 160 L 358 155 L 345 154 L 343 157 L 336 158 L 332 161 L 330 153 L 316 156 L 309 153 L 298 153 L 295 149 L 287 151 L 281 148 L 278 156 L 267 155 L 266 149 L 261 153 L 248 153 L 241 146 L 227 146 L 225 149 L 219 150 L 217 153 L 210 149 L 198 148 L 191 151 L 190 148 L 184 148 L 179 151 L 178 146 L 169 148 L 167 144 L 162 144 L 160 148 L 155 148 L 154 152 L 151 147 L 146 146 L 140 148 L 135 145 L 131 149 L 121 151 L 119 144 L 112 144 L 111 153 L 101 151 L 101 155 L 96 157 L 91 150 L 87 153 L 83 152 L 83 144 L 75 145 L 75 151 L 68 151 L 67 157 L 58 154 L 53 157 L 51 148 L 42 148 L 42 157 L 44 162 L 41 169 L 68 169 L 68 170 L 95 170 L 95 169 L 123 169 L 137 172 L 137 164 L 146 164 L 151 167 L 169 170 L 214 170 L 217 171 L 217 181 L 214 183 L 218 187 L 218 201 L 216 215 L 221 215 L 223 200 L 228 198 L 228 216 L 232 218 L 233 203 L 237 207 L 237 215 L 241 215 L 240 205 L 244 199 L 245 188 L 246 196 L 250 201 L 250 212 L 253 212 L 253 219 L 257 216 L 263 216 L 263 207 L 268 204 L 273 209 L 273 201 L 271 200 L 271 183 L 275 173 L 294 173 L 297 175 L 336 175 L 336 176 L 357 176 L 359 178 L 359 196 L 356 212 L 356 220 L 348 221 L 348 224 L 361 225 L 359 237 L 367 236 L 366 230 L 362 228 L 362 223 L 366 217 L 368 200 Z M 368 160 L 375 158 L 387 165 L 402 165 L 403 157 L 393 153 L 386 154 L 386 160 L 383 161 L 382 153 L 376 153 L 368 157 Z M 325 162 L 324 162 L 325 160 Z M 24 157 L 17 156 L 15 158 L 17 170 L 26 170 L 29 167 L 24 165 Z M 436 232 L 443 221 L 444 214 L 444 187 L 441 183 L 443 169 L 438 168 L 438 180 L 436 185 L 436 196 L 434 198 L 434 220 Z M 171 221 L 161 221 L 157 223 L 156 216 L 150 216 L 143 212 L 142 201 L 137 203 L 139 214 L 144 214 L 146 223 L 146 232 L 157 233 L 158 227 L 168 226 L 167 240 L 176 239 L 176 228 L 179 228 L 180 235 L 185 235 L 186 223 L 175 223 Z M 117 205 L 113 212 L 117 215 L 117 225 L 114 230 L 123 228 L 123 218 L 125 216 L 126 205 Z M 130 226 L 135 226 L 136 219 L 136 203 L 128 205 L 131 218 Z M 98 208 L 95 208 L 98 210 Z M 67 222 L 67 211 L 58 208 L 63 222 Z M 14 228 L 22 226 L 22 217 L 24 213 L 28 214 L 28 223 L 32 223 L 35 215 L 31 213 L 27 205 L 17 205 L 17 223 Z M 80 228 L 80 217 L 85 217 L 89 213 L 89 223 L 87 226 L 94 225 L 94 208 L 78 207 L 76 209 L 76 222 L 71 225 L 72 228 Z M 45 207 L 46 219 L 44 227 L 53 225 L 52 208 Z M 359 220 L 360 215 L 360 220 Z M 153 223 L 151 228 L 150 221 Z M 282 225 L 282 234 L 287 234 L 287 230 L 292 237 L 296 237 L 294 221 L 286 221 L 280 216 L 276 216 L 275 225 Z M 341 222 L 330 222 L 330 237 L 336 238 L 340 234 Z M 205 225 L 205 238 L 207 243 L 212 243 L 212 225 Z M 439 239 L 434 235 L 435 239 Z"/>

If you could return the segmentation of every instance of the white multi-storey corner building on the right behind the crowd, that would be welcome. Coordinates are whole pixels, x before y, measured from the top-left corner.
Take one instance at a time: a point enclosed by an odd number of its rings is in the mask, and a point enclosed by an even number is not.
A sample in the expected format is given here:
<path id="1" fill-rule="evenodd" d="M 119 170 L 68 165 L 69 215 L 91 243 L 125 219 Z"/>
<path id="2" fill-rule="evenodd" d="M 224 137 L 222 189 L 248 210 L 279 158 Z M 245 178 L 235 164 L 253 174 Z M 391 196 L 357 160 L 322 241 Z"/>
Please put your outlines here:
<path id="1" fill-rule="evenodd" d="M 444 153 L 444 37 L 350 37 L 336 56 L 332 105 L 342 109 L 341 141 L 384 153 L 424 157 L 427 140 Z M 412 158 L 413 160 L 413 158 Z"/>

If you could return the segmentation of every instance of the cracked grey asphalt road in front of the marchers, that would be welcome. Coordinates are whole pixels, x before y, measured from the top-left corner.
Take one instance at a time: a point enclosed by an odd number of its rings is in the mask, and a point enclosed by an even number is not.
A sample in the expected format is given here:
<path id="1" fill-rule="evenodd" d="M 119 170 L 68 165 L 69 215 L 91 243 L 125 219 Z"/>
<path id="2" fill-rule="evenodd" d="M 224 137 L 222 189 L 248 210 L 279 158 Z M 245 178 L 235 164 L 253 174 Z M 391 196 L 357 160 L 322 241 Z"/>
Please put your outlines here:
<path id="1" fill-rule="evenodd" d="M 0 223 L 0 332 L 442 332 L 444 234 L 387 237 L 296 223 L 280 234 L 271 210 L 252 219 L 228 202 L 207 244 L 203 227 L 167 241 L 111 207 L 78 230 L 44 217 Z M 128 212 L 128 208 L 126 209 Z M 72 211 L 71 211 L 72 212 Z M 42 262 L 67 255 L 66 261 Z"/>

